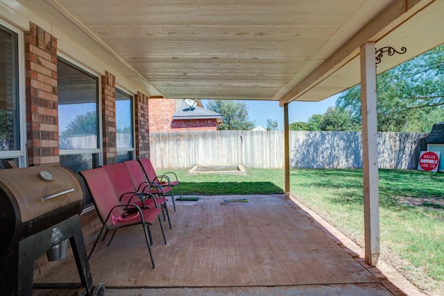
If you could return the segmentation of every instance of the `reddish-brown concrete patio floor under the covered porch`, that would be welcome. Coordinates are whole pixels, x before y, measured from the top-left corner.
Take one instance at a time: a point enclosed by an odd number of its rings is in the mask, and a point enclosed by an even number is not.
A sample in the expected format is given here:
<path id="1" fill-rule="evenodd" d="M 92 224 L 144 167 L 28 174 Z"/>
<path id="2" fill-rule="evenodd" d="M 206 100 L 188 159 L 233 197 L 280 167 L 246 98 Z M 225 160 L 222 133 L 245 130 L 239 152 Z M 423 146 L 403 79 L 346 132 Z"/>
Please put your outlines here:
<path id="1" fill-rule="evenodd" d="M 424 295 L 390 266 L 366 265 L 361 248 L 296 199 L 212 196 L 176 206 L 172 229 L 163 223 L 167 245 L 152 227 L 155 269 L 139 226 L 99 243 L 89 265 L 105 295 Z M 79 281 L 67 258 L 37 282 Z"/>

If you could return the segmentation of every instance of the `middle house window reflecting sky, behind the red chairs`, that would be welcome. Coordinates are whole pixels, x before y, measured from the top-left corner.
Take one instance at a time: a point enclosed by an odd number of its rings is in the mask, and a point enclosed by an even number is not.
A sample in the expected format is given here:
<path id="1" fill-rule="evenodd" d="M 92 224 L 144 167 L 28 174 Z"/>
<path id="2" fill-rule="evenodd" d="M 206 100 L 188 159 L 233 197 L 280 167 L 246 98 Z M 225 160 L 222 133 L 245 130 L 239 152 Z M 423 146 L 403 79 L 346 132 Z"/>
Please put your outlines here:
<path id="1" fill-rule="evenodd" d="M 99 79 L 58 59 L 60 165 L 73 172 L 99 167 Z M 85 197 L 85 206 L 92 202 Z"/>

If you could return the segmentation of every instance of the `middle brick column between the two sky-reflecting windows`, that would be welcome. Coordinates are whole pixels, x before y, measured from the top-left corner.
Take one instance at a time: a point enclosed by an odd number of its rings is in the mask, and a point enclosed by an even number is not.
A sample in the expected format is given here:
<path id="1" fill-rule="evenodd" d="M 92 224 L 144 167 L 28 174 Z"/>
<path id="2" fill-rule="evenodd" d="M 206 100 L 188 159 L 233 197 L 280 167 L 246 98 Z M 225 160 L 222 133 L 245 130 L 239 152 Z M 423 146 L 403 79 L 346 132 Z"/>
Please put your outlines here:
<path id="1" fill-rule="evenodd" d="M 103 164 L 117 163 L 116 77 L 102 76 Z"/>

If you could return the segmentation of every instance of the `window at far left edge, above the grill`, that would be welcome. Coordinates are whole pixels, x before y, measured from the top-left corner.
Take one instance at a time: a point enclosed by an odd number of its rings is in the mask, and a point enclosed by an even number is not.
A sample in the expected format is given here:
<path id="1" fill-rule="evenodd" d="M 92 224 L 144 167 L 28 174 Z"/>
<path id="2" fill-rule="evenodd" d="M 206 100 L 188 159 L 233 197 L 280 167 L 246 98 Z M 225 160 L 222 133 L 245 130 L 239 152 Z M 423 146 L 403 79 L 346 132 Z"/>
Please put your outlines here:
<path id="1" fill-rule="evenodd" d="M 22 43 L 21 43 L 22 45 Z M 19 37 L 0 25 L 0 169 L 24 162 L 19 98 Z"/>

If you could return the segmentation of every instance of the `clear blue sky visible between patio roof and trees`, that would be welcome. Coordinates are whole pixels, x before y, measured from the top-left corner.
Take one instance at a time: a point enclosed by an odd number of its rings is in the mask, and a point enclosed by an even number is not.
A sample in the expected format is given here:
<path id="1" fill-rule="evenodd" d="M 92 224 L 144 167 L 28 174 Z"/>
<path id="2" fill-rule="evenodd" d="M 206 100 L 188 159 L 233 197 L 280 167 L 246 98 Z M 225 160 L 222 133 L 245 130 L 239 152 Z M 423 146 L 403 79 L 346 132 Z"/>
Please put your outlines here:
<path id="1" fill-rule="evenodd" d="M 324 114 L 328 107 L 336 105 L 336 94 L 323 101 L 293 101 L 289 104 L 289 124 L 292 122 L 307 122 L 314 114 Z M 208 100 L 201 100 L 203 106 L 207 106 Z M 276 120 L 278 130 L 284 129 L 284 107 L 279 106 L 279 101 L 242 101 L 248 106 L 248 117 L 266 129 L 266 120 Z"/>

